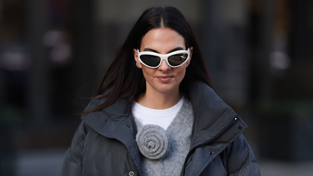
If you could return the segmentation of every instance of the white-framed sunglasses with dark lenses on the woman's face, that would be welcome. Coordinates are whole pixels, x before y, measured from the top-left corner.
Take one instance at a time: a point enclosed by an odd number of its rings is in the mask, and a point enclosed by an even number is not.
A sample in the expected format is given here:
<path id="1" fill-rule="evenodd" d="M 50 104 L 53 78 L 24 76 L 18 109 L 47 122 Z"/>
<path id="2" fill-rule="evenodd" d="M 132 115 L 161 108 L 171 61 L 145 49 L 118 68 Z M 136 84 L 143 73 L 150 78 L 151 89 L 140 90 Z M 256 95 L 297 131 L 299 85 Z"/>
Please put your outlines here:
<path id="1" fill-rule="evenodd" d="M 137 49 L 138 60 L 141 64 L 150 68 L 157 68 L 165 60 L 170 67 L 178 67 L 187 62 L 190 58 L 189 48 L 187 50 L 173 51 L 168 54 L 159 54 L 151 51 L 140 52 Z"/>

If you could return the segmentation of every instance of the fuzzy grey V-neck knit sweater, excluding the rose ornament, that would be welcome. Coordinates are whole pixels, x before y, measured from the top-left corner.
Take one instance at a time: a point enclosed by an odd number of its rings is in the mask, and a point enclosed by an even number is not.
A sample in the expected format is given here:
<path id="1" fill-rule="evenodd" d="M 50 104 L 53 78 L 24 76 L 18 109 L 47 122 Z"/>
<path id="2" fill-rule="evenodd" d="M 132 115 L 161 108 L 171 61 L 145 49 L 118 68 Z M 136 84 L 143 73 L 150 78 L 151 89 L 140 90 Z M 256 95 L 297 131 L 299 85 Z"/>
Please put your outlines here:
<path id="1" fill-rule="evenodd" d="M 138 132 L 142 124 L 135 118 Z M 141 156 L 144 176 L 179 176 L 189 152 L 194 115 L 191 102 L 184 99 L 178 114 L 166 130 L 168 151 L 159 159 Z M 140 145 L 140 144 L 138 144 Z"/>

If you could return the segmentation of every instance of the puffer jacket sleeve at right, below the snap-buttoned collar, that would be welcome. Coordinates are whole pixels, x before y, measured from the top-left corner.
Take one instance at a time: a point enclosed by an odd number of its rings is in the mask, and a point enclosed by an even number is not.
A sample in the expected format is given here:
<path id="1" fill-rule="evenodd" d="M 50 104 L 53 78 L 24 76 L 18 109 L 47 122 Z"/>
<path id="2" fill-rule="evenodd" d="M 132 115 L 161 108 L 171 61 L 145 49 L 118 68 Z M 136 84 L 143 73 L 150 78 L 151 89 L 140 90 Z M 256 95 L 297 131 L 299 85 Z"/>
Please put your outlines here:
<path id="1" fill-rule="evenodd" d="M 255 156 L 241 134 L 225 150 L 228 176 L 261 176 Z"/>

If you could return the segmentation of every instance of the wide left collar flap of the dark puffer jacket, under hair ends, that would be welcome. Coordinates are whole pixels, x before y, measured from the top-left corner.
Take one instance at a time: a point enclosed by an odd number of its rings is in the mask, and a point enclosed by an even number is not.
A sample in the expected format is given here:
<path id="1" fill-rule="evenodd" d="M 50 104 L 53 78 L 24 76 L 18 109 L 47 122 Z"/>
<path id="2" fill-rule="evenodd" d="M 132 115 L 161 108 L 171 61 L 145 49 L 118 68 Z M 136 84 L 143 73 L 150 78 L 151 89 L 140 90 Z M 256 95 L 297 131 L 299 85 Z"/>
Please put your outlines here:
<path id="1" fill-rule="evenodd" d="M 93 99 L 86 110 L 102 104 L 105 99 Z M 82 115 L 81 119 L 101 135 L 122 142 L 130 152 L 134 163 L 141 172 L 140 154 L 135 141 L 137 133 L 134 117 L 131 113 L 131 103 L 116 101 L 111 106 Z"/>

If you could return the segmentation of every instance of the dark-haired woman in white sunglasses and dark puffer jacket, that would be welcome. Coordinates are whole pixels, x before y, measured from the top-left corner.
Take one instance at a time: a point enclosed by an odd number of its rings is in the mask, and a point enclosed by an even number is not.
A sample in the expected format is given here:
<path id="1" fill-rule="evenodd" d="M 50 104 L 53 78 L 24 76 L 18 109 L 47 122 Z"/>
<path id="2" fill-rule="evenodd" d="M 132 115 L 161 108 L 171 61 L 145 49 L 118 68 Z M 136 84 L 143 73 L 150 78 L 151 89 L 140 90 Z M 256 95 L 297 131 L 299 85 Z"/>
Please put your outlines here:
<path id="1" fill-rule="evenodd" d="M 82 115 L 61 176 L 259 176 L 174 7 L 147 9 Z"/>

